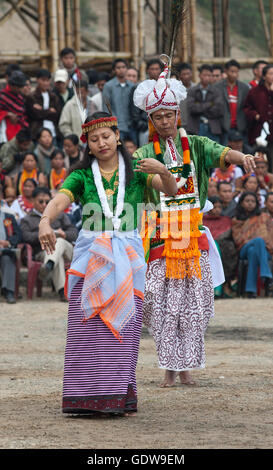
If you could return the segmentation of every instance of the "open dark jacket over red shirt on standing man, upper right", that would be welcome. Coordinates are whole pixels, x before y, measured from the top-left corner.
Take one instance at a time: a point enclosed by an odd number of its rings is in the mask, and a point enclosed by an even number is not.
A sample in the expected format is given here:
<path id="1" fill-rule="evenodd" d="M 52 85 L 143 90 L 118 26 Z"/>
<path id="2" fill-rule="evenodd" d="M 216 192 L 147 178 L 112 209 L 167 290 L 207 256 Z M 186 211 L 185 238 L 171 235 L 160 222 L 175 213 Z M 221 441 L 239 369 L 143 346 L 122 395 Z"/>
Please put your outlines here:
<path id="1" fill-rule="evenodd" d="M 240 132 L 246 131 L 246 116 L 243 110 L 247 94 L 249 92 L 249 86 L 244 82 L 238 80 L 238 102 L 237 102 L 237 129 Z M 223 116 L 220 120 L 223 132 L 228 132 L 230 129 L 230 109 L 227 91 L 227 80 L 222 80 L 214 85 L 220 91 L 223 100 Z"/>

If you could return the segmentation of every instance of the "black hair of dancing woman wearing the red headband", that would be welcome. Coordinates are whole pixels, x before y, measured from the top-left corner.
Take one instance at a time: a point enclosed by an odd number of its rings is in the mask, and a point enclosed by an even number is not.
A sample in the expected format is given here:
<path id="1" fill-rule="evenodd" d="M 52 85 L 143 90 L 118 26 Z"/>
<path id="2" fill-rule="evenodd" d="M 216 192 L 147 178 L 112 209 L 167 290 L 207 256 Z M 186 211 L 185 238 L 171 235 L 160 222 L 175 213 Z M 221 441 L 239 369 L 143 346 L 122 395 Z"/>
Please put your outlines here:
<path id="1" fill-rule="evenodd" d="M 94 114 L 92 114 L 91 116 L 87 116 L 87 118 L 85 120 L 85 124 L 92 121 L 93 119 L 100 119 L 100 118 L 104 118 L 104 117 L 110 117 L 110 114 L 104 113 L 103 111 L 97 111 Z M 116 130 L 118 130 L 118 128 L 116 126 L 109 127 L 109 129 L 111 129 L 113 132 L 116 132 Z M 125 178 L 126 178 L 126 186 L 127 186 L 134 177 L 134 172 L 133 172 L 133 168 L 132 168 L 132 156 L 128 152 L 128 150 L 126 149 L 126 147 L 125 147 L 125 145 L 122 141 L 121 141 L 121 145 L 118 146 L 118 149 L 119 149 L 121 155 L 124 158 L 125 174 L 126 174 Z M 71 167 L 69 173 L 71 173 L 74 170 L 83 170 L 83 169 L 90 168 L 90 164 L 92 163 L 92 161 L 96 157 L 94 155 L 90 154 L 89 152 L 90 152 L 90 149 L 89 149 L 89 146 L 88 146 L 88 143 L 87 143 L 87 146 L 85 148 L 85 152 L 84 152 L 84 155 L 83 155 L 83 159 L 80 160 L 79 162 L 77 162 L 75 165 L 73 165 Z"/>

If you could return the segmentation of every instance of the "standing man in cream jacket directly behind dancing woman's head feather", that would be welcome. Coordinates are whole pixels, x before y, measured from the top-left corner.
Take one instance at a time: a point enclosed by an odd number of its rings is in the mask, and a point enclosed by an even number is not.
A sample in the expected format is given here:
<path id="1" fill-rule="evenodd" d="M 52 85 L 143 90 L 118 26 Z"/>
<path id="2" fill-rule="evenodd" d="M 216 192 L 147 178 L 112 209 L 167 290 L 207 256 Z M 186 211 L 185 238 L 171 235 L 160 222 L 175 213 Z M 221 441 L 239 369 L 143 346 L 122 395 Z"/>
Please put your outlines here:
<path id="1" fill-rule="evenodd" d="M 76 134 L 78 137 L 82 134 L 82 119 L 78 106 L 78 99 L 81 101 L 86 115 L 92 114 L 94 105 L 88 96 L 88 83 L 84 80 L 75 83 L 76 95 L 74 95 L 63 107 L 59 121 L 59 129 L 63 136 Z"/>

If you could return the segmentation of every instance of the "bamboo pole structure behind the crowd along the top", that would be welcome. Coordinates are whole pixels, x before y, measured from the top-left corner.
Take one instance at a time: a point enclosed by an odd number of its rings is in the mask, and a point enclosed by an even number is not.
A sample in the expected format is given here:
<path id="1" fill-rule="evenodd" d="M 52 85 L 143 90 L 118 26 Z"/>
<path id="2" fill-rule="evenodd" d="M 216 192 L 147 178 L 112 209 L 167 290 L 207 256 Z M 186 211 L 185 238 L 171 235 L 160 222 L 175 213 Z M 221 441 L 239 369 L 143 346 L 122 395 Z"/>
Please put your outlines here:
<path id="1" fill-rule="evenodd" d="M 49 67 L 54 72 L 59 66 L 59 53 L 64 47 L 74 48 L 78 64 L 110 69 L 115 58 L 124 58 L 140 71 L 140 79 L 146 76 L 146 61 L 161 53 L 168 53 L 170 33 L 170 0 L 101 0 L 108 7 L 109 44 L 89 32 L 82 31 L 80 0 L 6 0 L 10 8 L 0 18 L 0 26 L 18 15 L 30 34 L 35 37 L 33 50 L 1 51 L 0 73 L 10 62 L 18 62 L 23 70 Z M 189 62 L 193 79 L 197 67 L 203 63 L 223 64 L 230 60 L 229 0 L 212 0 L 212 57 L 198 58 L 196 51 L 196 0 L 185 0 L 186 22 L 183 24 L 176 46 L 174 63 Z M 93 2 L 90 3 L 91 7 Z M 266 17 L 263 0 L 257 1 L 263 30 L 268 44 L 269 63 L 273 61 L 273 0 L 270 0 L 270 20 Z M 36 23 L 36 24 L 35 24 Z M 154 37 L 154 53 L 151 40 Z M 267 55 L 267 53 L 265 54 Z M 234 58 L 234 57 L 233 57 Z M 235 57 L 236 58 L 236 57 Z M 261 59 L 261 58 L 258 58 Z M 239 58 L 242 67 L 250 68 L 257 58 Z M 104 69 L 105 69 L 104 68 Z"/>

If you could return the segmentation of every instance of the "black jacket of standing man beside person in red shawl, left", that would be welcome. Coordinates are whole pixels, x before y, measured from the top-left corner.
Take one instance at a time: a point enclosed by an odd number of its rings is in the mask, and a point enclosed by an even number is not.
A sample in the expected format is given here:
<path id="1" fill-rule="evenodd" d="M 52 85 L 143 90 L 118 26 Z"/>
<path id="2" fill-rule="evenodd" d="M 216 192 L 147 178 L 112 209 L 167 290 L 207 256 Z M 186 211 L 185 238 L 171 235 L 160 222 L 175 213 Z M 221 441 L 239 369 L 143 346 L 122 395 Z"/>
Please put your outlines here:
<path id="1" fill-rule="evenodd" d="M 39 104 L 43 107 L 43 96 L 39 88 L 26 97 L 26 112 L 28 121 L 30 123 L 30 129 L 32 132 L 32 138 L 36 139 L 38 130 L 43 127 L 43 121 L 46 119 L 52 121 L 55 125 L 56 133 L 58 131 L 57 125 L 60 118 L 61 105 L 58 97 L 51 91 L 49 93 L 49 108 L 55 108 L 56 113 L 49 109 L 36 109 L 34 104 Z"/>

